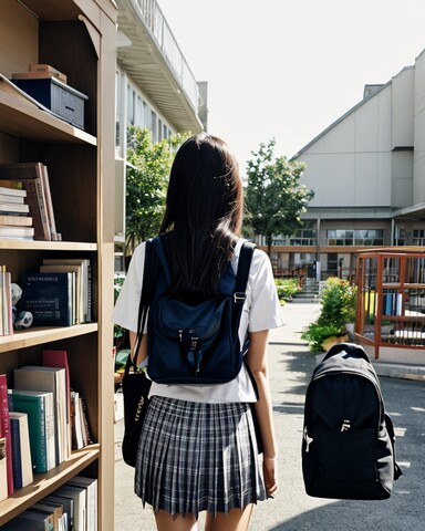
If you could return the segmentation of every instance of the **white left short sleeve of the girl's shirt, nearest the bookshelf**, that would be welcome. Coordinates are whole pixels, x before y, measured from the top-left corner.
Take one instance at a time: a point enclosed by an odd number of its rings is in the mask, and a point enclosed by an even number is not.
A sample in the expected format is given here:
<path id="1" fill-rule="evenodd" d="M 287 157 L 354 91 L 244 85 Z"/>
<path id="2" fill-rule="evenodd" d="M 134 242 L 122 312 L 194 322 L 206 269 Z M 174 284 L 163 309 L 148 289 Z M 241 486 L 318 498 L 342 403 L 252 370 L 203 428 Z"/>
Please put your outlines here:
<path id="1" fill-rule="evenodd" d="M 138 305 L 142 294 L 143 269 L 145 266 L 145 243 L 136 247 L 124 284 L 116 300 L 112 320 L 123 329 L 137 332 Z"/>

